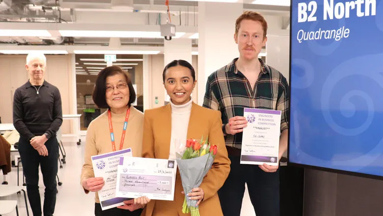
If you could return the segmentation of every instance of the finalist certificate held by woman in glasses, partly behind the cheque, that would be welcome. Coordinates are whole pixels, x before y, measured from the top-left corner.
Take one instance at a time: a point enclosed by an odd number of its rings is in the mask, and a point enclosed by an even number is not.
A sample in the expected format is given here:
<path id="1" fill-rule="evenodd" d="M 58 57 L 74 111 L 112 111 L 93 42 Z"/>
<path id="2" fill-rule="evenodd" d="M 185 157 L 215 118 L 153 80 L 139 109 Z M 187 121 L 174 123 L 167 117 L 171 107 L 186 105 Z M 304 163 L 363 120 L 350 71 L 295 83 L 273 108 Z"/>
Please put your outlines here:
<path id="1" fill-rule="evenodd" d="M 101 209 L 107 210 L 117 206 L 124 205 L 126 198 L 116 197 L 116 177 L 117 166 L 120 157 L 132 157 L 132 149 L 123 149 L 120 151 L 110 152 L 102 155 L 92 156 L 93 171 L 95 177 L 103 177 L 105 185 L 98 191 Z"/>

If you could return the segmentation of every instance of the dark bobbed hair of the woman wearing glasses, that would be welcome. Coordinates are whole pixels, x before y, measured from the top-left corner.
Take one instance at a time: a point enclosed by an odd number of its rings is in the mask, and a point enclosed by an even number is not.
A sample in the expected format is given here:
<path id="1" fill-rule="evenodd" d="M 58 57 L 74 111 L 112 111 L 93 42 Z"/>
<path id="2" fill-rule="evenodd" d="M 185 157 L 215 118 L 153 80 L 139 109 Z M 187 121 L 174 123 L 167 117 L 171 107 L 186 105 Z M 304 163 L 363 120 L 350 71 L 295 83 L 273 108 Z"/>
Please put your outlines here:
<path id="1" fill-rule="evenodd" d="M 131 104 L 133 104 L 136 100 L 136 92 L 133 88 L 132 80 L 130 79 L 130 76 L 128 72 L 122 70 L 118 66 L 110 66 L 102 69 L 100 73 L 97 75 L 96 79 L 96 85 L 93 89 L 92 98 L 94 103 L 99 108 L 109 108 L 109 105 L 107 103 L 106 99 L 106 91 L 107 91 L 107 77 L 114 76 L 116 74 L 122 74 L 125 77 L 126 82 L 128 83 L 129 87 L 129 101 L 128 106 L 130 107 Z"/>

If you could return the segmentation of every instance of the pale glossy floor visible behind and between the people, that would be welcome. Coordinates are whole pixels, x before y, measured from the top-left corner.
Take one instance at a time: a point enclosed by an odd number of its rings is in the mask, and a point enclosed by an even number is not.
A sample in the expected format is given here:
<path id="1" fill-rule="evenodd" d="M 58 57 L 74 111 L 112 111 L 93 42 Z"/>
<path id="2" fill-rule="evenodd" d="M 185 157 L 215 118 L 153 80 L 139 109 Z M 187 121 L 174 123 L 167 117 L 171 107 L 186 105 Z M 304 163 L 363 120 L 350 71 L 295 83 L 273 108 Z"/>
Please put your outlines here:
<path id="1" fill-rule="evenodd" d="M 57 187 L 58 193 L 56 197 L 55 216 L 94 215 L 94 193 L 85 194 L 82 187 L 80 186 L 80 173 L 83 163 L 85 137 L 81 137 L 81 140 L 81 145 L 77 145 L 75 142 L 63 143 L 67 156 L 66 164 L 63 164 L 63 168 L 58 169 L 58 177 L 60 182 L 62 182 L 62 185 Z M 3 176 L 2 173 L 0 173 L 1 182 L 2 179 Z M 16 168 L 13 168 L 12 171 L 7 175 L 7 181 L 9 184 L 17 185 Z M 41 172 L 39 187 L 43 200 L 44 185 L 42 182 Z M 19 216 L 27 216 L 23 193 L 20 195 L 14 194 L 6 198 L 1 197 L 0 199 L 18 200 Z M 32 212 L 29 206 L 28 209 L 29 215 L 32 216 Z M 3 216 L 16 216 L 16 211 Z M 253 207 L 250 203 L 250 199 L 247 195 L 247 189 L 244 196 L 241 216 L 255 216 Z"/>

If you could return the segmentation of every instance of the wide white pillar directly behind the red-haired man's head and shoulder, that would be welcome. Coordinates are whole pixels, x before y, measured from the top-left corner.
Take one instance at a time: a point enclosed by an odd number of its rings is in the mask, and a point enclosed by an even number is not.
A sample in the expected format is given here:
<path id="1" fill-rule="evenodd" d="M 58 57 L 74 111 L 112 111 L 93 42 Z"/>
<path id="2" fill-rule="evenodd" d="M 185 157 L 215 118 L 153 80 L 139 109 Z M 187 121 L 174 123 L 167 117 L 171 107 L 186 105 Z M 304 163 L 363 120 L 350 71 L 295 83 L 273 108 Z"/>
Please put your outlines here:
<path id="1" fill-rule="evenodd" d="M 219 10 L 217 10 L 219 8 Z M 234 41 L 235 21 L 243 13 L 240 3 L 198 3 L 198 104 L 202 106 L 210 74 L 239 56 Z"/>

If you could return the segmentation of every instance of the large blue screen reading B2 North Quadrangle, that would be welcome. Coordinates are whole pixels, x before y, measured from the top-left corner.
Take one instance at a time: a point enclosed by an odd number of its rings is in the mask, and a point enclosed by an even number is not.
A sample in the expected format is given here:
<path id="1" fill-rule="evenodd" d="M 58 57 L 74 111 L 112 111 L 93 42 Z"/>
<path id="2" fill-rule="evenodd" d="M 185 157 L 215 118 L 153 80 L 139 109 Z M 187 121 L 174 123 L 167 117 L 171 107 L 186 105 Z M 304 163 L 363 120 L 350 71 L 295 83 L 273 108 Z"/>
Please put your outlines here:
<path id="1" fill-rule="evenodd" d="M 383 176 L 383 0 L 292 0 L 289 162 Z"/>

